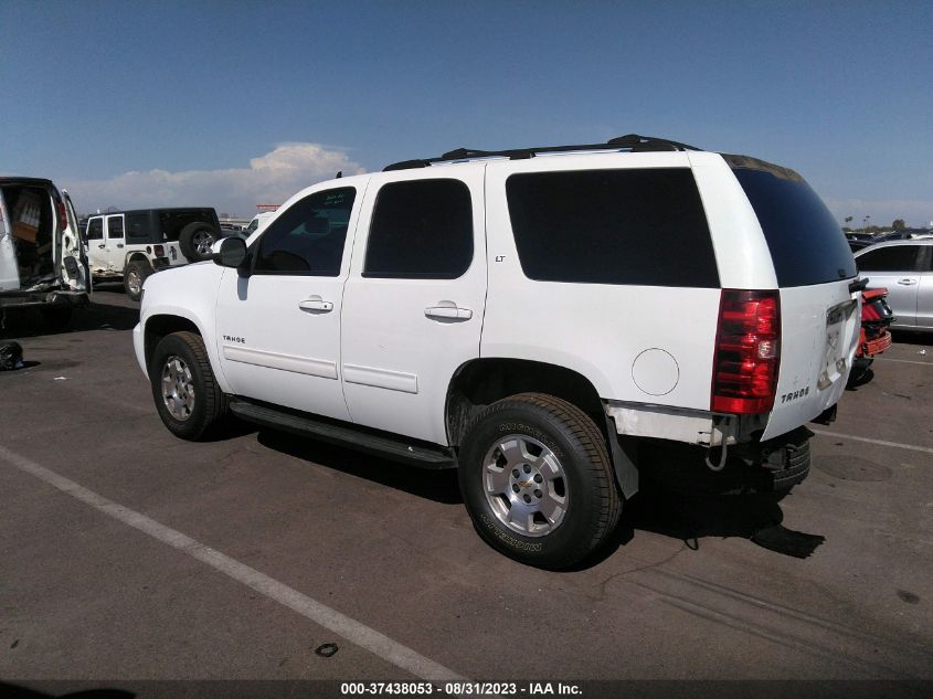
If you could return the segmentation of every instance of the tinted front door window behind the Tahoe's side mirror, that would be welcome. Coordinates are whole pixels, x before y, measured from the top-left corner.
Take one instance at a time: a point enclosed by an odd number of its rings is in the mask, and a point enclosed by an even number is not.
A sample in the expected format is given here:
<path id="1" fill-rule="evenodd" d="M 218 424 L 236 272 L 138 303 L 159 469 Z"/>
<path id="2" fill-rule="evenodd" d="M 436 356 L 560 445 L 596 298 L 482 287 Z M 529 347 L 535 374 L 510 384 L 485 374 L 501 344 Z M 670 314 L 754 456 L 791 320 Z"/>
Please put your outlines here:
<path id="1" fill-rule="evenodd" d="M 254 272 L 339 276 L 356 194 L 352 187 L 331 189 L 289 206 L 259 239 Z"/>

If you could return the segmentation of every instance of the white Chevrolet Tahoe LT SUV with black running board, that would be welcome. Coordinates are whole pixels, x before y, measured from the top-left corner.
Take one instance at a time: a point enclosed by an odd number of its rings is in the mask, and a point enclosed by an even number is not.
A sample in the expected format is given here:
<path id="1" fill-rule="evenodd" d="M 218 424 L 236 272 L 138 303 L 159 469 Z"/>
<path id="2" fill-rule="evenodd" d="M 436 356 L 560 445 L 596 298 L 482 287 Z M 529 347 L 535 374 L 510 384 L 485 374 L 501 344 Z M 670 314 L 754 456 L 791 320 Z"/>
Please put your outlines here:
<path id="1" fill-rule="evenodd" d="M 173 434 L 232 413 L 456 467 L 480 536 L 543 568 L 612 533 L 658 445 L 685 481 L 786 493 L 858 340 L 796 172 L 634 135 L 321 182 L 214 251 L 147 279 L 135 329 Z"/>

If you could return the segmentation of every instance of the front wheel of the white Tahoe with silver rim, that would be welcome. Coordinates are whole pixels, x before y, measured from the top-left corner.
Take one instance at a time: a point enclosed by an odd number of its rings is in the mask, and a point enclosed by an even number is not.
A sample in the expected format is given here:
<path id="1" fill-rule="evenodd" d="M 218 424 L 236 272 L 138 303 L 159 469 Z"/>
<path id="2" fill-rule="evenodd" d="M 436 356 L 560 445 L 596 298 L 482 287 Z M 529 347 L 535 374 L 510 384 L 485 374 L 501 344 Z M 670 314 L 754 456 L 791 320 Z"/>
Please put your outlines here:
<path id="1" fill-rule="evenodd" d="M 149 362 L 149 382 L 159 417 L 177 437 L 209 438 L 225 424 L 226 395 L 201 336 L 185 331 L 162 338 Z"/>

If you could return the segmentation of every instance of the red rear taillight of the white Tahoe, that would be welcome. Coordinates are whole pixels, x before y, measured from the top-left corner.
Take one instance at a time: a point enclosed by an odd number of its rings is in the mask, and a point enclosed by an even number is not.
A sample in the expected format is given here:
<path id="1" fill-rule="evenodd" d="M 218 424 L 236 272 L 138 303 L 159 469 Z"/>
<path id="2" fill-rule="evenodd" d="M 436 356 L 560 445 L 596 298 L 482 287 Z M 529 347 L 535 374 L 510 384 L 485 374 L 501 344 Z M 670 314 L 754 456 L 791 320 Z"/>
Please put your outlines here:
<path id="1" fill-rule="evenodd" d="M 778 293 L 722 289 L 710 410 L 768 412 L 774 406 L 780 360 Z"/>

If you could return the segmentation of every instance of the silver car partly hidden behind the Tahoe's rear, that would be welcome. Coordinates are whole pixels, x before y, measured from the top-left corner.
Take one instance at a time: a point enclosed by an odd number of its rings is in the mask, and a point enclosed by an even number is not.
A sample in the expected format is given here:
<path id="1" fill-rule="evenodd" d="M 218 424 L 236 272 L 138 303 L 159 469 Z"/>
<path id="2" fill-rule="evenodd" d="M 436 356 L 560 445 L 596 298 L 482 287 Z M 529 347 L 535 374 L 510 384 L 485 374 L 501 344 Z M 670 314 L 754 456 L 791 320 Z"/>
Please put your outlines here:
<path id="1" fill-rule="evenodd" d="M 886 287 L 894 328 L 933 330 L 933 240 L 891 241 L 856 253 L 870 288 Z"/>

